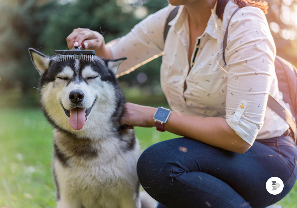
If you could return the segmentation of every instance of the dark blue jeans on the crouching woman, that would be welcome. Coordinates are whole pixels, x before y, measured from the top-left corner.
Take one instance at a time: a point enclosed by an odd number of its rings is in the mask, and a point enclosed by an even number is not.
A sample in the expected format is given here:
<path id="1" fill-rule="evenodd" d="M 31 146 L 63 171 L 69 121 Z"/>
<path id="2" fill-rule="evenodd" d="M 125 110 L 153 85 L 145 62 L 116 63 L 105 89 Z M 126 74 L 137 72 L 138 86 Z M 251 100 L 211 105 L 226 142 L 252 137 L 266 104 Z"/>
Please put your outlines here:
<path id="1" fill-rule="evenodd" d="M 297 148 L 289 136 L 256 140 L 244 154 L 190 138 L 162 141 L 140 156 L 141 185 L 159 201 L 158 208 L 261 208 L 281 200 L 297 178 Z M 278 195 L 266 182 L 279 177 Z"/>

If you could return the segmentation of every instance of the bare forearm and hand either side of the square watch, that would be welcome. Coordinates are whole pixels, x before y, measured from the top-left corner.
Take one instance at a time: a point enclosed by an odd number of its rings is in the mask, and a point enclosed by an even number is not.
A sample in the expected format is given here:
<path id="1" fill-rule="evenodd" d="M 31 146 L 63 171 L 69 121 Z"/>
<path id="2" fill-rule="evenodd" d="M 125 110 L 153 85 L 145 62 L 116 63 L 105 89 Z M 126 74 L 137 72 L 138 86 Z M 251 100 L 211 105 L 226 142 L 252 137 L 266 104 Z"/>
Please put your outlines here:
<path id="1" fill-rule="evenodd" d="M 153 127 L 157 108 L 126 103 L 121 124 Z M 236 153 L 246 152 L 250 145 L 233 131 L 221 117 L 191 116 L 172 111 L 165 130 Z"/>

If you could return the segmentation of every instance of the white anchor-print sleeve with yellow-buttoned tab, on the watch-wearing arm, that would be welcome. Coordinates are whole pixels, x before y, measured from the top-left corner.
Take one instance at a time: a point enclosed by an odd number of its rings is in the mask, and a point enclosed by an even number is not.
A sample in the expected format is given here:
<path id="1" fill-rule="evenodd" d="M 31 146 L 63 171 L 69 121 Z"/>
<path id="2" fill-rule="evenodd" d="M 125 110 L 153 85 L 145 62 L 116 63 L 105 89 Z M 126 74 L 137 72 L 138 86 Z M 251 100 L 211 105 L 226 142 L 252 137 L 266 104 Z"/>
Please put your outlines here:
<path id="1" fill-rule="evenodd" d="M 252 145 L 264 123 L 274 76 L 275 45 L 265 15 L 244 7 L 231 19 L 225 59 L 228 81 L 226 122 Z"/>

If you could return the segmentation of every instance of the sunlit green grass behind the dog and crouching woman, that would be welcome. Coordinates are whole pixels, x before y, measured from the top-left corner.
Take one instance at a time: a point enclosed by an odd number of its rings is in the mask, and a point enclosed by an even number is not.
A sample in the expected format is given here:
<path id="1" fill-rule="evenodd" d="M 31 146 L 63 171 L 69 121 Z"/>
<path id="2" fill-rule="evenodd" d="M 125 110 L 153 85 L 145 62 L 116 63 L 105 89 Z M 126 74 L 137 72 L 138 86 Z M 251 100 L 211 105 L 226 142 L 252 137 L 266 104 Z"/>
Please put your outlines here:
<path id="1" fill-rule="evenodd" d="M 135 127 L 142 149 L 175 138 Z M 0 109 L 0 208 L 56 207 L 51 174 L 52 127 L 39 109 Z M 278 204 L 296 208 L 297 184 Z"/>

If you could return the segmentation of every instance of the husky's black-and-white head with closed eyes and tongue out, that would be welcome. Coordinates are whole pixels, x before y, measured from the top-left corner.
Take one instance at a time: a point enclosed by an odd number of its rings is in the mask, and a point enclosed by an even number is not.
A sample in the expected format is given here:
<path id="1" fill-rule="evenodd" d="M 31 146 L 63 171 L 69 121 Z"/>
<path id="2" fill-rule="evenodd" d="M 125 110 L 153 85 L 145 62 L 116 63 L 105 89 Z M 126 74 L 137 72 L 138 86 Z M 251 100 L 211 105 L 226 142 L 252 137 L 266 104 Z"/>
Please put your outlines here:
<path id="1" fill-rule="evenodd" d="M 29 49 L 32 62 L 39 71 L 39 98 L 42 109 L 54 127 L 70 131 L 86 128 L 114 128 L 123 111 L 124 98 L 115 78 L 116 71 L 127 58 L 93 61 L 54 58 Z M 97 126 L 88 124 L 94 121 Z"/>

